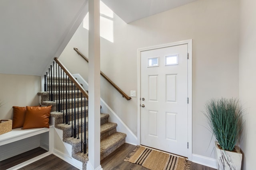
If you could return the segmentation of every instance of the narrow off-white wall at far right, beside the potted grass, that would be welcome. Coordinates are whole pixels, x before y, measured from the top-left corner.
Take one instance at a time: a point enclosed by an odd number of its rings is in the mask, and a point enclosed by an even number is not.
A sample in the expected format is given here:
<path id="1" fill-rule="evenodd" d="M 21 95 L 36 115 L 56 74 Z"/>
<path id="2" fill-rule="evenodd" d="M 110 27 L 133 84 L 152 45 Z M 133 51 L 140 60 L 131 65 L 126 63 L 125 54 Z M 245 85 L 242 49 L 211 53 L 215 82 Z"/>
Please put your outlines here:
<path id="1" fill-rule="evenodd" d="M 246 108 L 246 123 L 240 147 L 244 170 L 255 169 L 256 141 L 256 1 L 240 0 L 239 97 Z"/>

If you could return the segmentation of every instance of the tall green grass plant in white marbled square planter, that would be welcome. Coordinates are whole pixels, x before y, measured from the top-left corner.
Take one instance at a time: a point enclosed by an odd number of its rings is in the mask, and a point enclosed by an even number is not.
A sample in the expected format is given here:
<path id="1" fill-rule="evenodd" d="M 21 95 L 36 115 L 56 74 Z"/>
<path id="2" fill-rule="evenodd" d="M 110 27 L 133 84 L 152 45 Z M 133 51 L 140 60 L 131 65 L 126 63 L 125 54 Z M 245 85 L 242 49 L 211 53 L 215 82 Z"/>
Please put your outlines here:
<path id="1" fill-rule="evenodd" d="M 216 138 L 215 155 L 219 170 L 240 170 L 242 153 L 236 146 L 244 125 L 244 109 L 237 99 L 211 99 L 204 112 Z"/>

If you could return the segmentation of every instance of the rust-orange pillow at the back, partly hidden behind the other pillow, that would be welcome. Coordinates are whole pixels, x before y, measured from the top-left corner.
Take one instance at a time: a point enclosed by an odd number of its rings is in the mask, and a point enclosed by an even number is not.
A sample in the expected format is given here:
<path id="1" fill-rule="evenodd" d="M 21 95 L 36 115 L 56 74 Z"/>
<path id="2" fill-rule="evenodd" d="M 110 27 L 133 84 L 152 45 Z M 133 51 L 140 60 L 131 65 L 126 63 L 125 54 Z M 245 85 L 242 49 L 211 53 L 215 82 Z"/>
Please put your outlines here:
<path id="1" fill-rule="evenodd" d="M 40 107 L 33 106 L 33 107 Z M 12 129 L 23 127 L 25 115 L 26 115 L 26 107 L 18 107 L 12 106 L 13 108 L 13 118 L 12 118 Z"/>

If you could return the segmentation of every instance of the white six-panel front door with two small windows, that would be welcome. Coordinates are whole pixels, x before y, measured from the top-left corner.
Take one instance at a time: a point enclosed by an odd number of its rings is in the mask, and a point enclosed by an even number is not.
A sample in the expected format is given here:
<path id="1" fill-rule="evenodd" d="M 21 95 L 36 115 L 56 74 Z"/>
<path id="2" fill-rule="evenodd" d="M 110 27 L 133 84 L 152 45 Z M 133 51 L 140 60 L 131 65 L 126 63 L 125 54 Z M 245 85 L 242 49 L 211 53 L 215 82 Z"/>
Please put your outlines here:
<path id="1" fill-rule="evenodd" d="M 141 145 L 188 157 L 188 45 L 141 52 Z"/>

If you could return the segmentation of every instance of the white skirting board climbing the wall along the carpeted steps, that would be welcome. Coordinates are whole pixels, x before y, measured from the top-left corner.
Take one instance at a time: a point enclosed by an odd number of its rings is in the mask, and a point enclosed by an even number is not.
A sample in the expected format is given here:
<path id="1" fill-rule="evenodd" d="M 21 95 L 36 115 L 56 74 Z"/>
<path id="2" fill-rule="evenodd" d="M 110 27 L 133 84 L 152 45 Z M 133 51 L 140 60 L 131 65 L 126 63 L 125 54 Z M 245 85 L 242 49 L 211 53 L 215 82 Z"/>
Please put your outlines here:
<path id="1" fill-rule="evenodd" d="M 78 82 L 83 84 L 83 87 L 85 90 L 88 90 L 88 83 L 82 78 L 80 74 L 72 74 Z M 112 121 L 114 123 L 117 123 L 116 130 L 118 132 L 122 132 L 126 134 L 126 143 L 129 143 L 131 145 L 137 145 L 137 137 L 134 135 L 134 133 L 130 130 L 130 128 L 118 117 L 118 115 L 106 104 L 106 102 L 100 98 L 100 105 L 102 106 L 102 111 L 104 113 L 108 113 L 110 115 L 109 121 Z"/>

